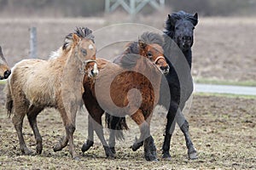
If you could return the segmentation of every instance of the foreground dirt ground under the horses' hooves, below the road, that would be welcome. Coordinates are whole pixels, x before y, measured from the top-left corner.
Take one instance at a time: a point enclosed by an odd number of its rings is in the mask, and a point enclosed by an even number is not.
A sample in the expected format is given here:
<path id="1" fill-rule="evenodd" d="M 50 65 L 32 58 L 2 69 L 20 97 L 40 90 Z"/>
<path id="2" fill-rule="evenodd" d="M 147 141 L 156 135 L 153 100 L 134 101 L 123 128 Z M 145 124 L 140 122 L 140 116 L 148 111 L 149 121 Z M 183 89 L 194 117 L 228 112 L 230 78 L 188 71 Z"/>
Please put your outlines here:
<path id="1" fill-rule="evenodd" d="M 151 121 L 151 133 L 157 147 L 158 162 L 143 159 L 143 149 L 130 149 L 138 127 L 128 118 L 130 130 L 125 140 L 117 143 L 117 158 L 105 158 L 102 144 L 96 139 L 94 146 L 84 155 L 80 151 L 87 136 L 87 112 L 77 116 L 74 143 L 80 161 L 73 161 L 65 148 L 54 152 L 52 147 L 64 134 L 61 117 L 53 109 L 38 116 L 38 127 L 44 140 L 39 156 L 22 156 L 11 119 L 3 107 L 3 85 L 0 86 L 0 169 L 255 169 L 256 168 L 256 99 L 225 98 L 195 95 L 186 117 L 199 158 L 188 159 L 183 134 L 175 130 L 172 138 L 172 160 L 161 159 L 161 144 L 166 124 L 166 112 L 157 107 Z M 35 150 L 35 140 L 27 119 L 24 120 L 26 144 Z M 108 133 L 105 133 L 108 138 Z"/>

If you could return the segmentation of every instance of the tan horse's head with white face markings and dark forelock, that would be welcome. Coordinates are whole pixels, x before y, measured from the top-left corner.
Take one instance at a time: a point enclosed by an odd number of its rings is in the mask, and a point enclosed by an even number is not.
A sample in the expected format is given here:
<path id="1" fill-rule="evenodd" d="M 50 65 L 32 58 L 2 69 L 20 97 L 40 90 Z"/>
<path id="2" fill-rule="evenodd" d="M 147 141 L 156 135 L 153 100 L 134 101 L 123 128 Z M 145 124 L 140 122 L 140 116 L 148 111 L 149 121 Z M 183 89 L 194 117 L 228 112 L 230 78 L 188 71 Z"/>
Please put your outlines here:
<path id="1" fill-rule="evenodd" d="M 73 48 L 75 48 L 75 53 L 77 57 L 83 62 L 85 72 L 89 77 L 96 77 L 99 73 L 97 64 L 96 64 L 96 45 L 94 43 L 94 36 L 91 34 L 91 30 L 84 27 L 79 27 L 70 37 L 73 42 Z M 68 40 L 66 37 L 66 40 Z M 66 41 L 63 48 L 67 47 Z"/>

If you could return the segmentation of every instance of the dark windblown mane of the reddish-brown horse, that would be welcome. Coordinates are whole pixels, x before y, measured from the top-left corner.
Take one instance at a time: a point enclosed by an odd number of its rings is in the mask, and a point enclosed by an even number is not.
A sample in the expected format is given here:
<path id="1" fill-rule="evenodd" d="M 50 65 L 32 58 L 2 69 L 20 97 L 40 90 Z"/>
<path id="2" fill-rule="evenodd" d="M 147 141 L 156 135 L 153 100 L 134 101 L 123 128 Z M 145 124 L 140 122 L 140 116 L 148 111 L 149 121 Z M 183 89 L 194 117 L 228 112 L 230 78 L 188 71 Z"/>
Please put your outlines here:
<path id="1" fill-rule="evenodd" d="M 117 63 L 124 68 L 131 68 L 137 65 L 137 59 L 140 59 L 139 52 L 140 48 L 138 45 L 139 41 L 143 41 L 147 45 L 157 43 L 161 47 L 164 44 L 164 38 L 154 32 L 144 32 L 140 37 L 138 37 L 137 41 L 130 42 L 126 45 L 125 52 L 119 57 L 120 59 L 116 59 Z"/>

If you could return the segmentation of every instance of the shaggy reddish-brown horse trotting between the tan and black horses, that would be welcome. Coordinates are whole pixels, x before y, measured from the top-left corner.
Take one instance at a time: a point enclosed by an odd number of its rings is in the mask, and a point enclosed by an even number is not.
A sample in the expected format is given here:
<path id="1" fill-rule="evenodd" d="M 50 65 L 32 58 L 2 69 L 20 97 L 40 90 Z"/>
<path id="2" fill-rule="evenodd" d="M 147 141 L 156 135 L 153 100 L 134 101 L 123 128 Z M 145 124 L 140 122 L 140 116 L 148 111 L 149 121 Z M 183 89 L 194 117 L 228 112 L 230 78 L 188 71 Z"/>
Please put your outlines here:
<path id="1" fill-rule="evenodd" d="M 149 124 L 159 99 L 161 72 L 167 73 L 169 70 L 159 44 L 162 41 L 160 35 L 145 32 L 137 42 L 129 43 L 125 53 L 115 59 L 119 65 L 97 59 L 101 71 L 96 80 L 84 77 L 83 99 L 90 116 L 88 139 L 83 144 L 83 152 L 93 144 L 95 130 L 106 155 L 113 157 L 102 131 L 102 115 L 108 111 L 114 116 L 131 116 L 141 132 L 132 147 L 137 148 L 144 141 L 145 159 L 156 160 L 156 148 Z"/>

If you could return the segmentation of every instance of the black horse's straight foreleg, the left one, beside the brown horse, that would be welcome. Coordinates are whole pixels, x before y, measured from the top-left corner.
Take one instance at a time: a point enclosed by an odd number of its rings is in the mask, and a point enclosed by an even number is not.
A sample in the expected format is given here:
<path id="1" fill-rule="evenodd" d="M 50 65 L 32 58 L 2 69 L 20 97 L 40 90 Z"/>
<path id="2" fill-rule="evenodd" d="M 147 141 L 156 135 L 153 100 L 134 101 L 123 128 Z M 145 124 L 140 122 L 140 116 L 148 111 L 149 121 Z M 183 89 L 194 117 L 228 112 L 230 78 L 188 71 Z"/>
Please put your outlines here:
<path id="1" fill-rule="evenodd" d="M 166 159 L 171 159 L 170 155 L 170 144 L 171 144 L 171 139 L 172 139 L 172 133 L 175 129 L 175 116 L 177 113 L 178 106 L 175 102 L 171 102 L 169 111 L 167 113 L 167 123 L 166 123 L 166 133 L 165 133 L 165 139 L 164 139 L 164 144 L 162 146 L 162 154 L 163 158 Z"/>

